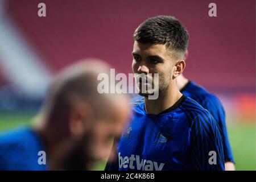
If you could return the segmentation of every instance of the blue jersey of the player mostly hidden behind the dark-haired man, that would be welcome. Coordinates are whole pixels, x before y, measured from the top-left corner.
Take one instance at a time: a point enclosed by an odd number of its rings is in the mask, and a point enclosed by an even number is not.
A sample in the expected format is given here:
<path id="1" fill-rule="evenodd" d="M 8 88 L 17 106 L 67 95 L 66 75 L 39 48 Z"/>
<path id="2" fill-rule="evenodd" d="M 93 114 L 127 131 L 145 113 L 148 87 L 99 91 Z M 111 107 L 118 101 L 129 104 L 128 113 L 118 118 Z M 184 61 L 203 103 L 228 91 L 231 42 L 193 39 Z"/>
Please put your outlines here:
<path id="1" fill-rule="evenodd" d="M 218 98 L 213 94 L 209 93 L 205 88 L 192 81 L 189 81 L 184 88 L 180 90 L 180 92 L 198 102 L 204 107 L 204 109 L 207 109 L 209 113 L 212 114 L 221 129 L 225 162 L 234 163 L 228 139 L 228 132 L 226 129 L 225 111 L 220 100 L 218 100 Z M 131 105 L 140 104 L 142 102 L 144 102 L 144 97 L 137 96 L 131 100 Z"/>

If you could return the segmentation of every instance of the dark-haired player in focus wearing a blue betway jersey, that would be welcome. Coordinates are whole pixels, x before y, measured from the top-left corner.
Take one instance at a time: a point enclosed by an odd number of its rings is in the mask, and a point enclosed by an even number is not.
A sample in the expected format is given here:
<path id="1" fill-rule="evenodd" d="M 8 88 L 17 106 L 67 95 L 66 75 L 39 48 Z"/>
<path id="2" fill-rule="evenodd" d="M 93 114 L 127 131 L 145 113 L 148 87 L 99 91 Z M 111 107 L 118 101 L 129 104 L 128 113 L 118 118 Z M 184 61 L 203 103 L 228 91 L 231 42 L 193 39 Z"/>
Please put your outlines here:
<path id="1" fill-rule="evenodd" d="M 134 73 L 159 74 L 151 87 L 159 97 L 132 108 L 133 116 L 117 144 L 118 159 L 107 170 L 224 170 L 222 134 L 215 119 L 185 94 L 176 79 L 185 68 L 188 32 L 172 16 L 147 19 L 134 32 Z M 149 88 L 149 82 L 146 82 Z M 111 161 L 111 160 L 110 160 Z"/>

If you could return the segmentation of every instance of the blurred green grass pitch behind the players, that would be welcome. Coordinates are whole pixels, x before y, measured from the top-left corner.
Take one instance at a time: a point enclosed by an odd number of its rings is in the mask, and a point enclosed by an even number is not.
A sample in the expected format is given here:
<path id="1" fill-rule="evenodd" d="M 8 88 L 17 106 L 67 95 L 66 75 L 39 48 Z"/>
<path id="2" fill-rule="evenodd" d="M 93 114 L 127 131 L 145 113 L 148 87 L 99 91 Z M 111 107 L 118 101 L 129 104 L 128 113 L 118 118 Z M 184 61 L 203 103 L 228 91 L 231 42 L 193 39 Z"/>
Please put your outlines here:
<path id="1" fill-rule="evenodd" d="M 0 113 L 0 133 L 21 125 L 30 125 L 34 113 Z M 255 122 L 227 123 L 229 141 L 237 170 L 256 170 Z M 105 162 L 98 162 L 94 170 L 103 170 Z"/>

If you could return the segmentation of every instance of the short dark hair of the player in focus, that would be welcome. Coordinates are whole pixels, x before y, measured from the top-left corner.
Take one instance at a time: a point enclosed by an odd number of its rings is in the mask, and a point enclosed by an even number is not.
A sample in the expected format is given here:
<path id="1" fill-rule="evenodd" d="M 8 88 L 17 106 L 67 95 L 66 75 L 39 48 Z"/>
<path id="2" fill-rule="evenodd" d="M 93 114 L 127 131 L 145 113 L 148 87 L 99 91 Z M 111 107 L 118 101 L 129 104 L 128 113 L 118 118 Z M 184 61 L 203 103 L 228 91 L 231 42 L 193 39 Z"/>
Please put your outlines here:
<path id="1" fill-rule="evenodd" d="M 173 16 L 148 18 L 133 34 L 134 40 L 139 43 L 166 44 L 180 56 L 184 56 L 188 47 L 188 37 L 186 28 Z"/>

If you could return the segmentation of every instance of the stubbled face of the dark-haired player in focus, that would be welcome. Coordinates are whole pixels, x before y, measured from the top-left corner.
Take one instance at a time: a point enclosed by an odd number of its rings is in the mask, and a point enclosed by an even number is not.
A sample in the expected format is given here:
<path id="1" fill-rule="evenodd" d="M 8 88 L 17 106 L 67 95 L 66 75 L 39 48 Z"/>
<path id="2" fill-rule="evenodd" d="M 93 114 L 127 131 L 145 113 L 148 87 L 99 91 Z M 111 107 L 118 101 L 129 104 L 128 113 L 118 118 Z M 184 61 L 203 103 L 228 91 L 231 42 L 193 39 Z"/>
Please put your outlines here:
<path id="1" fill-rule="evenodd" d="M 159 89 L 159 95 L 163 95 L 172 81 L 174 71 L 175 61 L 172 60 L 170 51 L 163 44 L 141 44 L 135 41 L 132 55 L 133 73 L 152 73 L 153 78 L 147 75 L 147 79 L 152 80 L 154 90 Z M 159 74 L 159 86 L 154 82 L 154 73 Z M 142 84 L 141 81 L 137 82 L 139 94 L 147 96 L 148 93 L 142 93 Z"/>

